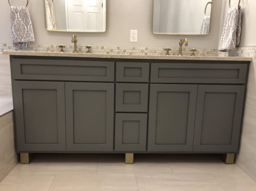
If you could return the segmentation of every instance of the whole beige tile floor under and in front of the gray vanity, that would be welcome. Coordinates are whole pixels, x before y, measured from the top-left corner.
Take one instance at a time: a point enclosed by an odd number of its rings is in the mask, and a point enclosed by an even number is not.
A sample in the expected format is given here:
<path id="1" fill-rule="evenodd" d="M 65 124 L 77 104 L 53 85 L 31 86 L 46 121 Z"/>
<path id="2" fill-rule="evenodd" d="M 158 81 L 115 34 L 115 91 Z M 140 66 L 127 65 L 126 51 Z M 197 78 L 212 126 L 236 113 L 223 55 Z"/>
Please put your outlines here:
<path id="1" fill-rule="evenodd" d="M 256 182 L 219 155 L 38 154 L 18 164 L 0 191 L 256 191 Z"/>

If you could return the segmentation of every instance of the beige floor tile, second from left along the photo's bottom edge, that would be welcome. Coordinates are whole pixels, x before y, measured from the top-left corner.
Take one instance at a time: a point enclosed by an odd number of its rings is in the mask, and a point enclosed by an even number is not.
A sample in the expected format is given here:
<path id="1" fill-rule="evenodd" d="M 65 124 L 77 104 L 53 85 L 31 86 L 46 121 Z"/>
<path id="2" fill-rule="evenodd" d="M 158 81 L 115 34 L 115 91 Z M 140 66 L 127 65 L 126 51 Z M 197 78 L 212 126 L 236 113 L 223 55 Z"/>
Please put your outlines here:
<path id="1" fill-rule="evenodd" d="M 134 174 L 57 175 L 49 191 L 138 191 Z"/>

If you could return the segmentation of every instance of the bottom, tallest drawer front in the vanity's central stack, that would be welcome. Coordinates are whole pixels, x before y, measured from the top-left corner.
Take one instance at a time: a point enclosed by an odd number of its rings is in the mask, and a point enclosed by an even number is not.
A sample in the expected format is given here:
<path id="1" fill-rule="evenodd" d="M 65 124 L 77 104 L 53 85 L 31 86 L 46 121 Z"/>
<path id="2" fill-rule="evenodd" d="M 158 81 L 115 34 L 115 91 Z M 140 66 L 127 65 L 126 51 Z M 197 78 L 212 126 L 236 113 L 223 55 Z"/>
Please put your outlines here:
<path id="1" fill-rule="evenodd" d="M 116 151 L 146 151 L 147 114 L 116 114 Z"/>

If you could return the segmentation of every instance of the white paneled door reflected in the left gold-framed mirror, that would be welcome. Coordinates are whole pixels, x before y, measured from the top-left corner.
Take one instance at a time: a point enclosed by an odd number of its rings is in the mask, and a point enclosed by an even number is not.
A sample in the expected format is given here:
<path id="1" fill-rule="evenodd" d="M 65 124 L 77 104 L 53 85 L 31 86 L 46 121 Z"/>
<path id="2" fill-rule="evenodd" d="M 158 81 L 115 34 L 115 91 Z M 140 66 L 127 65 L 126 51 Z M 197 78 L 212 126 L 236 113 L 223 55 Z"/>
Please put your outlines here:
<path id="1" fill-rule="evenodd" d="M 68 31 L 105 31 L 106 0 L 66 0 Z"/>

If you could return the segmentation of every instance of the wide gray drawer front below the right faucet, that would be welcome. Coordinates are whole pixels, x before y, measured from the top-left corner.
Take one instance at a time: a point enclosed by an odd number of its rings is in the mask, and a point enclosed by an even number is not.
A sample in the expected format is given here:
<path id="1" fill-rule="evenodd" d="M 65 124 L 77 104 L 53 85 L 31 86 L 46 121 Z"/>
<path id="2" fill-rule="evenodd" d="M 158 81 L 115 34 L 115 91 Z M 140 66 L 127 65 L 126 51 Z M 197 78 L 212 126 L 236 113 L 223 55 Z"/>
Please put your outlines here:
<path id="1" fill-rule="evenodd" d="M 244 84 L 247 64 L 152 63 L 151 83 Z"/>

